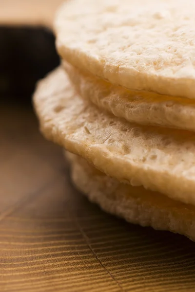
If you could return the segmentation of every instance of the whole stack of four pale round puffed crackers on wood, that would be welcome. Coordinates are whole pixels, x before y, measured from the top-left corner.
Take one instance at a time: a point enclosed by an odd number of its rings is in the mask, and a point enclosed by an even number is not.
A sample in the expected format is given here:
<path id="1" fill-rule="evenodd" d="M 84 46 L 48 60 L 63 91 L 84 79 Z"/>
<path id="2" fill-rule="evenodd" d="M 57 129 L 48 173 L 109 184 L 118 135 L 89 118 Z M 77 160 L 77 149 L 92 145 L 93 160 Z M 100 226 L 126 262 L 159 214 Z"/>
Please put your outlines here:
<path id="1" fill-rule="evenodd" d="M 69 0 L 61 66 L 34 104 L 76 187 L 129 222 L 195 240 L 195 1 Z M 71 153 L 70 153 L 71 152 Z"/>

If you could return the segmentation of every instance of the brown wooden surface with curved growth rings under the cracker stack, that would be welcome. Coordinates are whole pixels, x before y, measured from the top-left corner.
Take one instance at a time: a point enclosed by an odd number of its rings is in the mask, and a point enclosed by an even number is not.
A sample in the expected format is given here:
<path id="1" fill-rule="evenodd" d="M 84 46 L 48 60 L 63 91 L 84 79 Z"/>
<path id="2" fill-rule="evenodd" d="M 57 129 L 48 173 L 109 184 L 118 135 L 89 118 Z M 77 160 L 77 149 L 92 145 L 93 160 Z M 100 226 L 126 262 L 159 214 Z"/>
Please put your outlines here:
<path id="1" fill-rule="evenodd" d="M 195 243 L 102 212 L 31 110 L 0 107 L 0 291 L 195 291 Z"/>

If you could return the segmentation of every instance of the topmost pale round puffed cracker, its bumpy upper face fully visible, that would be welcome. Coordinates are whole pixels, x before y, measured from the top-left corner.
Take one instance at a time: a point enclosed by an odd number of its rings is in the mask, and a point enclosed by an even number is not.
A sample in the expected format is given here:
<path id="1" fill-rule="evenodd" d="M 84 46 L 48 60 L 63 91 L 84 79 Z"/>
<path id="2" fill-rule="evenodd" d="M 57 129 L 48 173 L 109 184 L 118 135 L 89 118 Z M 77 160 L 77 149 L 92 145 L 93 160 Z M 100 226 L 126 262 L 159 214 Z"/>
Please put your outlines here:
<path id="1" fill-rule="evenodd" d="M 195 98 L 194 0 L 69 0 L 61 57 L 131 90 Z"/>

